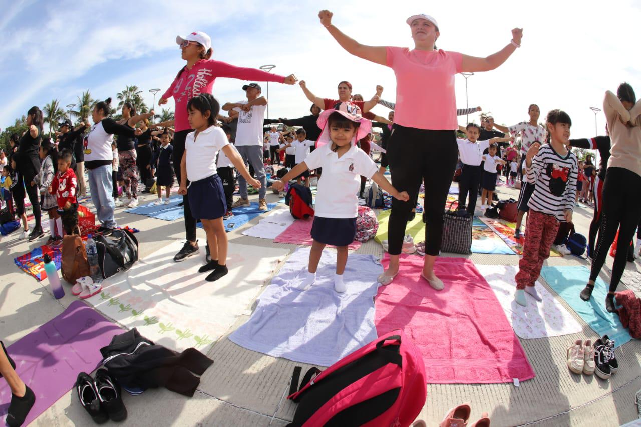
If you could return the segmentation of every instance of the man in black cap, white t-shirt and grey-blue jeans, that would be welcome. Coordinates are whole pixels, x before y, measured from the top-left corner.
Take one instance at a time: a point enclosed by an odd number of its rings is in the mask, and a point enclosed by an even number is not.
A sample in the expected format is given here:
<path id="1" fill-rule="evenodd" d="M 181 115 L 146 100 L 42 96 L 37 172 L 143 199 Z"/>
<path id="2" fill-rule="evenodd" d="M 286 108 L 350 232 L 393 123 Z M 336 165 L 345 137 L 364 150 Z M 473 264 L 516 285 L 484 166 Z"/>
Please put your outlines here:
<path id="1" fill-rule="evenodd" d="M 256 180 L 262 184 L 258 191 L 258 209 L 267 210 L 267 201 L 265 201 L 267 176 L 265 175 L 265 164 L 263 163 L 263 120 L 267 109 L 267 98 L 260 96 L 261 88 L 258 83 L 249 83 L 249 85 L 244 85 L 242 89 L 246 91 L 247 100 L 226 103 L 222 106 L 222 109 L 238 112 L 236 149 L 243 161 L 252 165 L 256 173 Z M 240 187 L 240 199 L 231 207 L 249 206 L 247 181 L 242 176 L 238 176 L 238 186 Z"/>

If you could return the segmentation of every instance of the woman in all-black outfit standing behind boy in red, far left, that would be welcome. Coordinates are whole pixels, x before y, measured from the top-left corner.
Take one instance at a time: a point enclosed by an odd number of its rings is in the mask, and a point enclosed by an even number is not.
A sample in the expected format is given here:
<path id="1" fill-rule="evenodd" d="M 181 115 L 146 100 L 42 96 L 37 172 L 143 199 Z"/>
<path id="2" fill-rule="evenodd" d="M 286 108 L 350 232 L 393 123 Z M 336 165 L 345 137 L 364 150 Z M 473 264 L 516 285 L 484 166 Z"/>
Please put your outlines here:
<path id="1" fill-rule="evenodd" d="M 29 242 L 44 236 L 40 226 L 40 199 L 38 186 L 33 184 L 33 178 L 40 172 L 40 140 L 42 139 L 42 111 L 37 106 L 32 106 L 27 112 L 26 123 L 28 130 L 22 135 L 18 146 L 17 165 L 24 181 L 27 197 L 31 202 L 31 210 L 35 219 L 35 226 L 29 233 Z"/>

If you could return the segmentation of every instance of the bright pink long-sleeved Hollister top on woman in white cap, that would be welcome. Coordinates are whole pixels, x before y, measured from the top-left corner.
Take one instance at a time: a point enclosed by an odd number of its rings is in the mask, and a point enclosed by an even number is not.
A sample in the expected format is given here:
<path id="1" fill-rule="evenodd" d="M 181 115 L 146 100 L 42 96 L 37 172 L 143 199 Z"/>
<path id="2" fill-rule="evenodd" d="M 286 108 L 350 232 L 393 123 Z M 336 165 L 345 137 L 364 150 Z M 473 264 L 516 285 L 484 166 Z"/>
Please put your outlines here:
<path id="1" fill-rule="evenodd" d="M 187 103 L 194 96 L 211 94 L 213 81 L 217 77 L 231 77 L 240 80 L 278 81 L 283 83 L 285 76 L 249 67 L 237 67 L 230 63 L 217 60 L 199 60 L 190 69 L 183 69 L 180 75 L 171 83 L 163 98 L 174 97 L 176 101 L 174 123 L 175 130 L 191 129 L 187 120 Z"/>

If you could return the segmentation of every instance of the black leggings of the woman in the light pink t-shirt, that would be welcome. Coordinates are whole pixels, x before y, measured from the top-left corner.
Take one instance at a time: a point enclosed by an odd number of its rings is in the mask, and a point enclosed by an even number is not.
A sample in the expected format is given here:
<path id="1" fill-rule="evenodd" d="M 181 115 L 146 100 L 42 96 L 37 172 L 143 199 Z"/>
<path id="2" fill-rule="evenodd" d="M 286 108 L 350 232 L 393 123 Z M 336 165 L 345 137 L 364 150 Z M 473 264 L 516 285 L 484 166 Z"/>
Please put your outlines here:
<path id="1" fill-rule="evenodd" d="M 410 201 L 407 202 L 392 199 L 388 253 L 401 253 L 405 227 L 412 209 L 416 207 L 420 183 L 424 181 L 423 219 L 427 223 L 425 253 L 436 256 L 440 252 L 443 237 L 443 212 L 447 193 L 458 158 L 456 134 L 453 130 L 406 128 L 394 124 L 387 146 L 392 185 L 410 195 Z"/>

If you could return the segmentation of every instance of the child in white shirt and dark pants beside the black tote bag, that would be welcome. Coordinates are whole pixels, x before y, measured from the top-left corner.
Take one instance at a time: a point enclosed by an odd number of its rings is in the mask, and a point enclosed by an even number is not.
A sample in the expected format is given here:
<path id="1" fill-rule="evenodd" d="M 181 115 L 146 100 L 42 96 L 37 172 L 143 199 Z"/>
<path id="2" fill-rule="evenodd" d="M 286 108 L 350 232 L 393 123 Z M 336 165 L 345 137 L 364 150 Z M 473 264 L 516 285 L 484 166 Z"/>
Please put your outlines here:
<path id="1" fill-rule="evenodd" d="M 458 153 L 461 156 L 463 167 L 458 180 L 458 209 L 465 210 L 465 199 L 469 194 L 469 203 L 467 203 L 467 213 L 474 215 L 476 208 L 476 198 L 478 197 L 479 185 L 483 169 L 483 151 L 497 142 L 508 142 L 511 138 L 494 137 L 485 141 L 479 141 L 481 128 L 476 123 L 469 123 L 467 127 L 459 126 L 460 131 L 465 131 L 467 138 L 456 138 L 458 144 Z"/>

